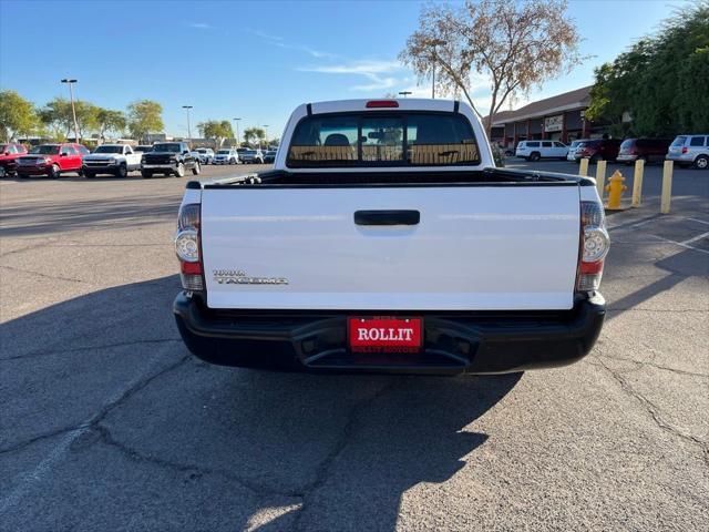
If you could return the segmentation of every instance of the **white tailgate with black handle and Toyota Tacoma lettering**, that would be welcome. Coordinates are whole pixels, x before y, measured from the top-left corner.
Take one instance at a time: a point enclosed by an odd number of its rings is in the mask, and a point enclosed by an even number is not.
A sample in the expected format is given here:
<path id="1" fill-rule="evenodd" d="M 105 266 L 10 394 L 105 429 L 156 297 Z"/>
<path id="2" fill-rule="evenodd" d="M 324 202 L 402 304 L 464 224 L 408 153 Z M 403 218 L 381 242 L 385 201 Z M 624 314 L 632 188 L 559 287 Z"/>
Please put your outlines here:
<path id="1" fill-rule="evenodd" d="M 202 235 L 210 308 L 569 309 L 579 191 L 207 187 Z"/>

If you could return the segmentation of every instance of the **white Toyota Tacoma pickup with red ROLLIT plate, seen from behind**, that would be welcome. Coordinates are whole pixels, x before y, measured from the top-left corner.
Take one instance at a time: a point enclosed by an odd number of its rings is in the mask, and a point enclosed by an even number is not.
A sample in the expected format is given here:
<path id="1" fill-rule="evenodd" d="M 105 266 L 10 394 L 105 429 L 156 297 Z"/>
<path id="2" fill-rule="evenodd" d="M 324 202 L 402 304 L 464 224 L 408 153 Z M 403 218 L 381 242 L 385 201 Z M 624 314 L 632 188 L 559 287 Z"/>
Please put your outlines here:
<path id="1" fill-rule="evenodd" d="M 226 366 L 563 366 L 600 332 L 608 245 L 593 180 L 495 167 L 464 103 L 311 103 L 274 170 L 187 184 L 173 311 Z"/>

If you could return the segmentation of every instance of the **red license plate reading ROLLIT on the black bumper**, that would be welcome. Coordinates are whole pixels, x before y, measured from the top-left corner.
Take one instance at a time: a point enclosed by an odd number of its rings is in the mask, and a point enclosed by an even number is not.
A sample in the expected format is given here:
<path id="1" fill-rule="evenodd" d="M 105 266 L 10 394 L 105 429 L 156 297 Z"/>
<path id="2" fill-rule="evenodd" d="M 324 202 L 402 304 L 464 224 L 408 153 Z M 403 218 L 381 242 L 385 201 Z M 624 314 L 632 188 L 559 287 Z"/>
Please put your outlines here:
<path id="1" fill-rule="evenodd" d="M 389 316 L 349 318 L 352 352 L 419 352 L 421 318 Z"/>

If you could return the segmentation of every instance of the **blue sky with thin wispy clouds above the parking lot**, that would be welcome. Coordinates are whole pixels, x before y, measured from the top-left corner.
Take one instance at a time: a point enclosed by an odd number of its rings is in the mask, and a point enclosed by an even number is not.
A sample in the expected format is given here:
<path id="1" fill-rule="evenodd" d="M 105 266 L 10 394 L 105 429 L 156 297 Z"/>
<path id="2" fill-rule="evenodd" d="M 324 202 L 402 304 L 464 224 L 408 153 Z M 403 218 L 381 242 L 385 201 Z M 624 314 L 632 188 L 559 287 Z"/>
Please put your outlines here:
<path id="1" fill-rule="evenodd" d="M 582 53 L 594 57 L 528 101 L 590 84 L 594 66 L 655 30 L 681 3 L 569 2 Z M 65 96 L 59 80 L 72 76 L 78 98 L 101 106 L 161 102 L 168 134 L 186 135 L 182 105 L 189 104 L 193 124 L 239 116 L 242 130 L 268 124 L 269 135 L 280 136 L 302 102 L 402 90 L 428 96 L 430 88 L 417 88 L 397 61 L 421 4 L 0 0 L 0 86 L 43 104 Z M 484 80 L 475 86 L 485 110 Z"/>

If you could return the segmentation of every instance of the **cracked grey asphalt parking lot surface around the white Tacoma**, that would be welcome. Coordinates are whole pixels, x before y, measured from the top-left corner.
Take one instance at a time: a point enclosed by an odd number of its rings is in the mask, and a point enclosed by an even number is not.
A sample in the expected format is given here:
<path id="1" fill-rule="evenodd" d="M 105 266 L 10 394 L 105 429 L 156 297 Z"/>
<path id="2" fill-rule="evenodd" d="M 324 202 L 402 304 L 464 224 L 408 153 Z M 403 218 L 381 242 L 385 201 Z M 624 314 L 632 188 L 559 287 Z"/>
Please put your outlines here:
<path id="1" fill-rule="evenodd" d="M 709 172 L 664 216 L 660 173 L 609 216 L 588 357 L 453 378 L 203 364 L 185 180 L 0 181 L 0 530 L 709 530 Z"/>

